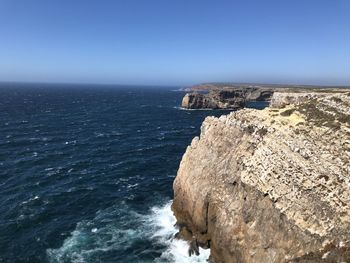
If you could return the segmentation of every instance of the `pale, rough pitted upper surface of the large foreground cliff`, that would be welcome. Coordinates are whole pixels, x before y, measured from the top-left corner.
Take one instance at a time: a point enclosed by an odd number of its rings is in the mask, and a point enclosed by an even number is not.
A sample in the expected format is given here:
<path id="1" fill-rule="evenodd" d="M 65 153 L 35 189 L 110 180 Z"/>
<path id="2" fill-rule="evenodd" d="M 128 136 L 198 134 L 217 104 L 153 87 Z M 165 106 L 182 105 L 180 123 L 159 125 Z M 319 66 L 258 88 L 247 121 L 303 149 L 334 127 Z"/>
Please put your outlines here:
<path id="1" fill-rule="evenodd" d="M 243 181 L 269 194 L 300 228 L 321 236 L 348 234 L 350 92 L 276 92 L 269 108 L 219 120 L 250 130 L 259 144 Z"/>

